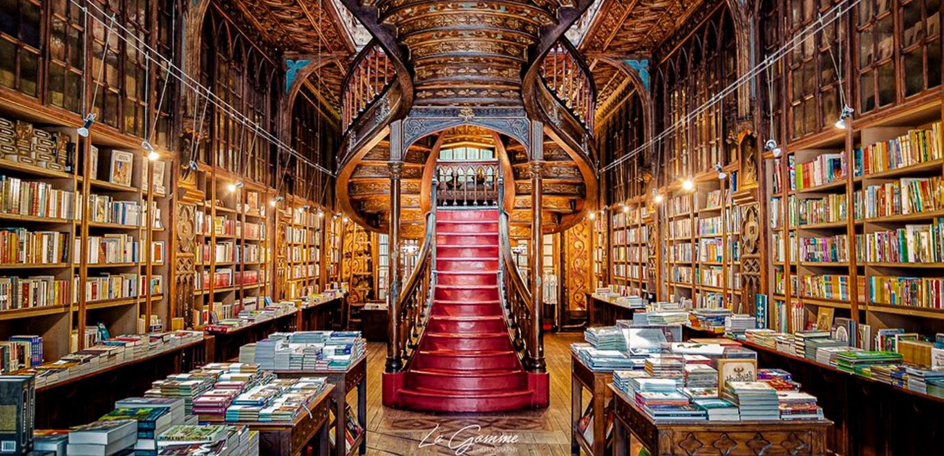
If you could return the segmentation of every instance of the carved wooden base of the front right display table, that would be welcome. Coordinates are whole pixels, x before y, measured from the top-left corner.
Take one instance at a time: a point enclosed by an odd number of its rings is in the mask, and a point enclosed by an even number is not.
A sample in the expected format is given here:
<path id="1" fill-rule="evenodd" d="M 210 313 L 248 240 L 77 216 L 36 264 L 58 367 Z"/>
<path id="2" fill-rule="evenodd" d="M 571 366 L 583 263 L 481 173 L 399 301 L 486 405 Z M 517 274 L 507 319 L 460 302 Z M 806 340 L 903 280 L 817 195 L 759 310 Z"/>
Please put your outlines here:
<path id="1" fill-rule="evenodd" d="M 653 456 L 679 454 L 825 455 L 830 420 L 666 421 L 656 423 L 613 385 L 614 454 L 628 454 L 632 436 Z"/>

